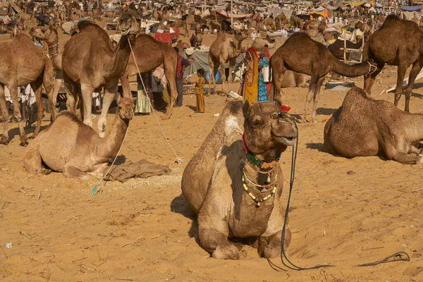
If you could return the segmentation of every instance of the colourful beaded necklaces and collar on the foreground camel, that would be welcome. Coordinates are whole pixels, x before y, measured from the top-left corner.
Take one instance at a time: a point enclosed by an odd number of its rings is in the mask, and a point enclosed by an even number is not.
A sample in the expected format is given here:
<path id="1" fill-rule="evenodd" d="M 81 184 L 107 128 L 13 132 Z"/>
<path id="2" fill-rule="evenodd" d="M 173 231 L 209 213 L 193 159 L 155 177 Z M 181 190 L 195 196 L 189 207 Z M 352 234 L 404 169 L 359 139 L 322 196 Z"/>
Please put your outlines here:
<path id="1" fill-rule="evenodd" d="M 255 157 L 255 155 L 252 154 L 252 152 L 250 152 L 250 149 L 248 149 L 247 145 L 245 144 L 244 135 L 243 135 L 243 147 L 244 147 L 245 156 L 247 157 L 248 164 L 250 164 L 252 168 L 254 168 L 254 166 L 257 166 L 257 168 L 259 168 L 259 170 L 255 169 L 255 171 L 259 173 L 267 174 L 266 181 L 264 182 L 265 184 L 261 185 L 261 184 L 254 183 L 252 180 L 250 180 L 247 177 L 247 174 L 245 173 L 245 168 L 243 168 L 243 188 L 245 192 L 247 192 L 247 195 L 250 196 L 250 198 L 255 201 L 256 207 L 260 207 L 261 202 L 264 202 L 270 199 L 275 194 L 276 183 L 274 184 L 274 188 L 271 190 L 270 194 L 267 195 L 266 197 L 261 197 L 261 198 L 256 197 L 255 195 L 252 195 L 252 192 L 250 192 L 250 190 L 247 187 L 247 183 L 250 183 L 251 185 L 254 185 L 257 188 L 262 188 L 260 192 L 268 192 L 267 188 L 271 186 L 271 173 L 274 170 L 274 167 L 276 166 L 276 164 L 278 164 L 278 161 L 281 158 L 281 153 L 276 154 L 276 158 L 273 161 L 267 163 L 265 161 L 257 159 L 257 157 Z M 271 168 L 271 169 L 266 172 L 260 171 L 260 169 L 268 169 L 268 168 Z M 275 182 L 277 177 L 278 176 L 276 174 L 274 178 Z"/>

